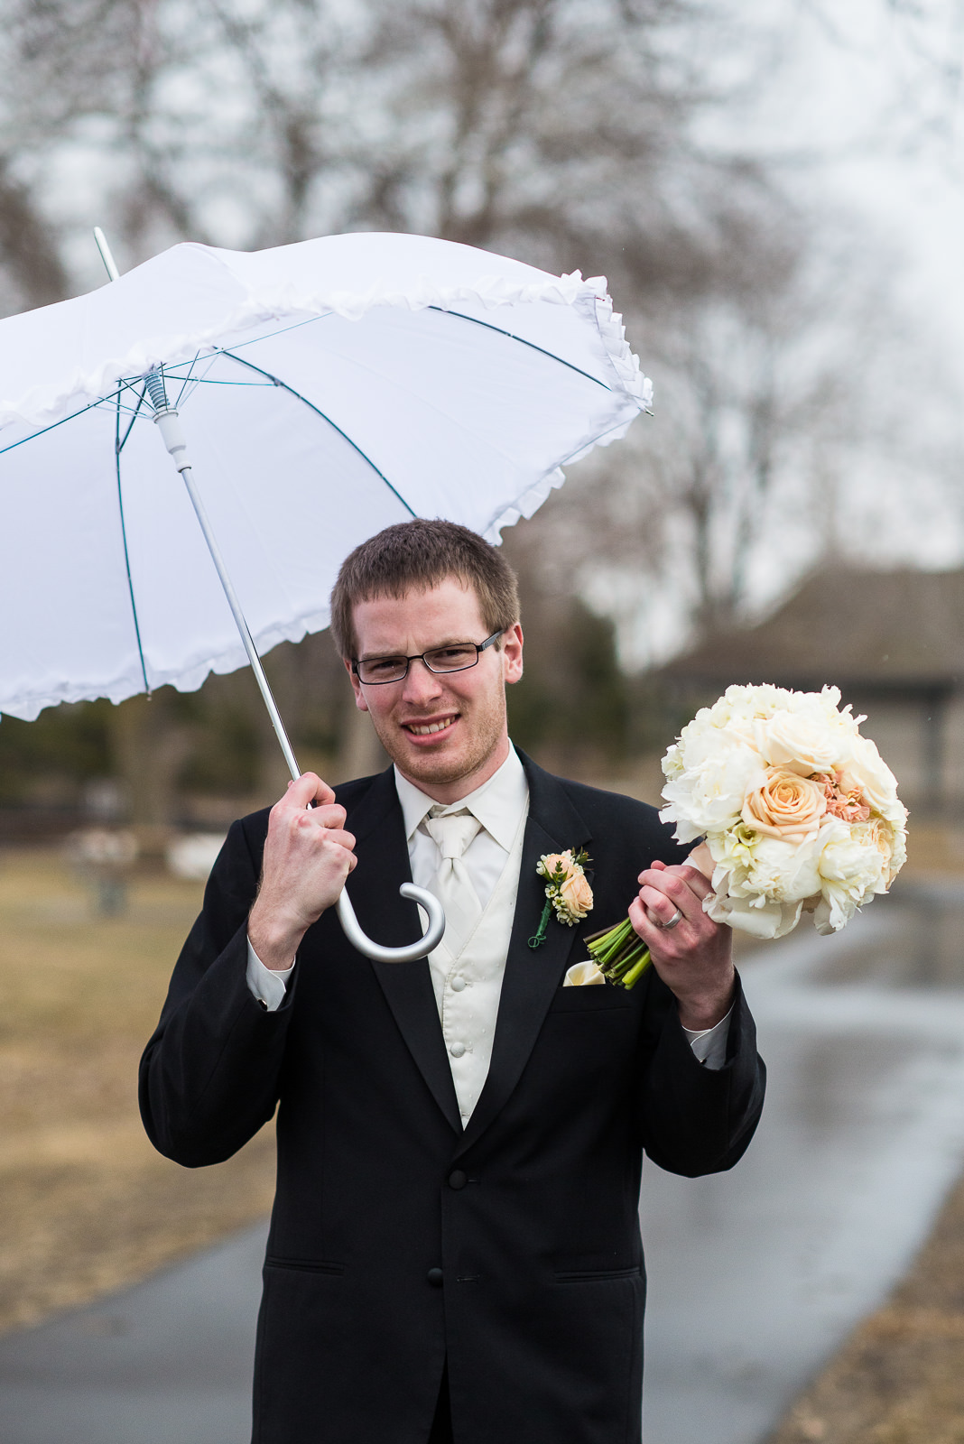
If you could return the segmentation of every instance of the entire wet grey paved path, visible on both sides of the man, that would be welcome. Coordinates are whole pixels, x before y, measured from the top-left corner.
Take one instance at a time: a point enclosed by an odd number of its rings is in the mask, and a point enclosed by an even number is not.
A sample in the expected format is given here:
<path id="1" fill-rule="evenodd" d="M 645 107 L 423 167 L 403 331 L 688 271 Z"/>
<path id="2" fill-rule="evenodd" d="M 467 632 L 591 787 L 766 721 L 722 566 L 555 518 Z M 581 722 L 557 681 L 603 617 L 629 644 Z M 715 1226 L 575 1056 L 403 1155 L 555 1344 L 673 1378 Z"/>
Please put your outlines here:
<path id="1" fill-rule="evenodd" d="M 964 1164 L 964 888 L 743 969 L 771 1082 L 732 1173 L 648 1165 L 647 1444 L 756 1444 Z M 0 1340 L 3 1444 L 245 1444 L 264 1227 Z"/>

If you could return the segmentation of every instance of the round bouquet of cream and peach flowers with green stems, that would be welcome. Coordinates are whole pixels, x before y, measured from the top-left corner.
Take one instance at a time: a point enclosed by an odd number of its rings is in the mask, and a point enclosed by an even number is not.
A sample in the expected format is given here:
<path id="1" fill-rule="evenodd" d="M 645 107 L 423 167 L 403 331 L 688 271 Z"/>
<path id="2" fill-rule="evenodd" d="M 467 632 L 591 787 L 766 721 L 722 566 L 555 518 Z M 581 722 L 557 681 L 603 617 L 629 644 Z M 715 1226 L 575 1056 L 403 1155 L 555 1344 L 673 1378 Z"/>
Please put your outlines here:
<path id="1" fill-rule="evenodd" d="M 886 892 L 906 859 L 906 809 L 837 687 L 727 687 L 697 712 L 662 760 L 664 822 L 703 838 L 691 861 L 717 923 L 782 937 L 801 913 L 836 933 Z M 632 924 L 589 940 L 612 982 L 632 986 L 648 963 Z M 645 957 L 644 957 L 645 954 Z"/>

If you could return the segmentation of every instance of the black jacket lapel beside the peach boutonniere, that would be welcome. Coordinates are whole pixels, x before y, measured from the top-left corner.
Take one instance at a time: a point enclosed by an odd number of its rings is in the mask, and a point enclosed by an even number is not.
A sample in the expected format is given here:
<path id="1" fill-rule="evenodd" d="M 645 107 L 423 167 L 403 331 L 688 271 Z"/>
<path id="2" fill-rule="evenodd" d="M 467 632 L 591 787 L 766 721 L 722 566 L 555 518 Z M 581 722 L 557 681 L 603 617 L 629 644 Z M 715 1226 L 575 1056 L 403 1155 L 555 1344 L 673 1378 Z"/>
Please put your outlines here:
<path id="1" fill-rule="evenodd" d="M 579 931 L 551 917 L 545 941 L 535 949 L 528 946 L 528 939 L 538 928 L 545 902 L 545 884 L 535 872 L 538 859 L 545 852 L 576 849 L 592 839 L 584 820 L 558 780 L 535 767 L 524 754 L 520 752 L 520 757 L 530 786 L 530 810 L 522 842 L 515 918 L 505 959 L 489 1076 L 472 1110 L 459 1152 L 469 1148 L 489 1126 L 518 1083 L 553 995 L 563 980 Z"/>

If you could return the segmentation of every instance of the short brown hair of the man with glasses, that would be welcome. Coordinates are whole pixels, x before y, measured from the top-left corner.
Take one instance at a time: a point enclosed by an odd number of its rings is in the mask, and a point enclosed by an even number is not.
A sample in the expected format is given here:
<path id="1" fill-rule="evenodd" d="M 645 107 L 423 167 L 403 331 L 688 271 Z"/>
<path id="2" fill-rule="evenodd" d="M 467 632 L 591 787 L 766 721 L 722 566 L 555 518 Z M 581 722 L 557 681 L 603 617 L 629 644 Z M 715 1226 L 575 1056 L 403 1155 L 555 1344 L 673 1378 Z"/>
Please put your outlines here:
<path id="1" fill-rule="evenodd" d="M 332 588 L 332 638 L 341 656 L 346 661 L 356 656 L 358 602 L 427 592 L 449 576 L 475 591 L 488 635 L 520 619 L 515 572 L 499 549 L 455 521 L 419 517 L 385 527 L 342 562 Z"/>

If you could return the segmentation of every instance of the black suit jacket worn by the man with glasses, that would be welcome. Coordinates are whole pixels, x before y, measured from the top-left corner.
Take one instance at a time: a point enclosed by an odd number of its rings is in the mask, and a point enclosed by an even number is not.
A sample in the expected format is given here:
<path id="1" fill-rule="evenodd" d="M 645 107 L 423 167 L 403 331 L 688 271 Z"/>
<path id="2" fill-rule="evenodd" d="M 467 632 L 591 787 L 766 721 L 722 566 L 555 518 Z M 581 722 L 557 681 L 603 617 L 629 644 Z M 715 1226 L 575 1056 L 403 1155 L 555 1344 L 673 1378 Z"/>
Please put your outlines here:
<path id="1" fill-rule="evenodd" d="M 730 1168 L 763 1097 L 739 996 L 720 1071 L 694 1058 L 649 969 L 632 992 L 567 988 L 580 937 L 625 917 L 636 875 L 680 849 L 651 807 L 553 777 L 530 783 L 520 892 L 488 1080 L 462 1131 L 427 962 L 359 957 L 329 910 L 284 1005 L 245 982 L 245 921 L 267 813 L 231 829 L 141 1061 L 154 1145 L 228 1158 L 274 1113 L 277 1196 L 264 1266 L 257 1444 L 426 1444 L 447 1357 L 459 1444 L 641 1438 L 645 1149 L 696 1175 Z M 358 839 L 362 927 L 417 936 L 391 770 L 338 790 Z M 543 908 L 538 856 L 586 845 L 595 910 Z"/>

